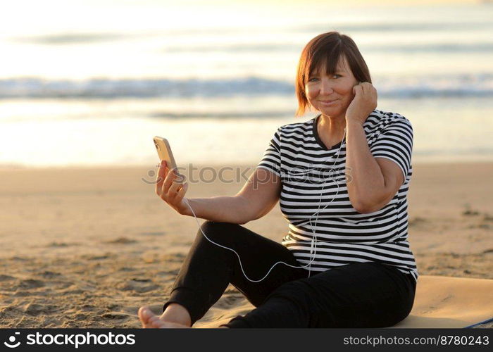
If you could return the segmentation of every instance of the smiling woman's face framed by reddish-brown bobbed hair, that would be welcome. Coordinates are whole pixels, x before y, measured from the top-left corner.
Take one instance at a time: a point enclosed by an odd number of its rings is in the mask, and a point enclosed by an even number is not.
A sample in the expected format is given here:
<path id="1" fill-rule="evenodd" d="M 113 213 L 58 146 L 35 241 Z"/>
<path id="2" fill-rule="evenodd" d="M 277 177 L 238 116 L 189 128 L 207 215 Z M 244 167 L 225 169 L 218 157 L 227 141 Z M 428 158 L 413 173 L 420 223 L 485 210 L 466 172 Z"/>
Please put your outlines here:
<path id="1" fill-rule="evenodd" d="M 327 75 L 325 65 L 311 73 L 305 84 L 305 94 L 313 108 L 325 116 L 345 118 L 358 84 L 344 56 L 339 58 L 334 75 Z"/>

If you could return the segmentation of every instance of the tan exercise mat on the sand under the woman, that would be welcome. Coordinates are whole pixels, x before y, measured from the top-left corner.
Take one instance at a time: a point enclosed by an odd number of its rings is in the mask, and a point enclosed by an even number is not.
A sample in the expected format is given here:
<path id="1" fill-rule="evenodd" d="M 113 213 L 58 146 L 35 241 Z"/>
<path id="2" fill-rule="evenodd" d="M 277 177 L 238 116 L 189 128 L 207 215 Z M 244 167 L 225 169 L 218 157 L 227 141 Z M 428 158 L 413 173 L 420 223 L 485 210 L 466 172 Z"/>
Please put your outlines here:
<path id="1" fill-rule="evenodd" d="M 224 297 L 223 297 L 224 298 Z M 226 324 L 254 309 L 246 299 L 216 303 L 194 327 Z M 394 327 L 466 327 L 493 318 L 493 280 L 420 275 L 408 318 Z"/>

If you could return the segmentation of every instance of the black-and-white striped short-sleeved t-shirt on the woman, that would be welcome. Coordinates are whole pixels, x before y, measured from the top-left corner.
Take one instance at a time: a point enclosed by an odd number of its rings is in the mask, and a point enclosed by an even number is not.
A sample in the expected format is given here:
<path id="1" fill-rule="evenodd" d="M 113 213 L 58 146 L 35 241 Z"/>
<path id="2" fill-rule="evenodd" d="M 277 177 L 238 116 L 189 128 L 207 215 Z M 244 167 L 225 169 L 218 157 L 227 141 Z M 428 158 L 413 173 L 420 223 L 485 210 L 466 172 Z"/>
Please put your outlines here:
<path id="1" fill-rule="evenodd" d="M 318 136 L 318 118 L 320 115 L 279 127 L 257 166 L 274 172 L 282 182 L 280 208 L 289 222 L 282 244 L 301 266 L 311 260 L 312 239 L 316 241 L 315 259 L 306 270 L 323 272 L 374 261 L 394 265 L 417 280 L 416 261 L 408 243 L 406 197 L 413 174 L 411 122 L 380 110 L 374 110 L 364 122 L 373 157 L 397 163 L 404 183 L 382 209 L 362 214 L 351 206 L 347 193 L 345 138 L 342 145 L 327 149 Z"/>

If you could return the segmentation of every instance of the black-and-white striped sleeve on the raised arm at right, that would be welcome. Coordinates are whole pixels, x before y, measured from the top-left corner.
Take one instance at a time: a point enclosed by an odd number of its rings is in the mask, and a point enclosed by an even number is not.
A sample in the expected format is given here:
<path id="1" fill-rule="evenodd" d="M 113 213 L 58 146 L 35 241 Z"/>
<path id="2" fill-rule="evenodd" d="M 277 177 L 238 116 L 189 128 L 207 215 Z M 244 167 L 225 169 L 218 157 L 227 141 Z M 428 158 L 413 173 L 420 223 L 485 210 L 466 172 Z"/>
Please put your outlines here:
<path id="1" fill-rule="evenodd" d="M 413 153 L 413 126 L 406 118 L 391 120 L 382 130 L 375 142 L 370 146 L 374 158 L 386 158 L 399 165 L 404 180 L 411 168 Z"/>

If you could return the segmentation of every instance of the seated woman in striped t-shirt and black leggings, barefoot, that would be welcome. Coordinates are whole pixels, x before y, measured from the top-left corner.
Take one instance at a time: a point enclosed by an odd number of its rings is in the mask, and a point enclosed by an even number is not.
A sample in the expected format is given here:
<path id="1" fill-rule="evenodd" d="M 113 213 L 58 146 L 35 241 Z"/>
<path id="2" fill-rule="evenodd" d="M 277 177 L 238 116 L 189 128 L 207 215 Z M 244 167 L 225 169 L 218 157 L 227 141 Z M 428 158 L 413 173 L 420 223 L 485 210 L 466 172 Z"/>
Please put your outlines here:
<path id="1" fill-rule="evenodd" d="M 163 315 L 140 308 L 144 327 L 191 327 L 230 283 L 256 309 L 222 327 L 389 327 L 411 311 L 418 278 L 407 241 L 411 123 L 375 109 L 368 67 L 338 32 L 306 45 L 296 89 L 297 115 L 308 106 L 320 115 L 278 128 L 236 196 L 188 199 L 208 221 Z M 156 184 L 161 199 L 193 215 L 187 184 L 173 182 L 177 175 L 164 165 L 158 177 L 165 178 Z M 266 215 L 278 200 L 289 222 L 282 244 L 239 225 Z M 235 249 L 242 266 L 202 231 Z"/>

